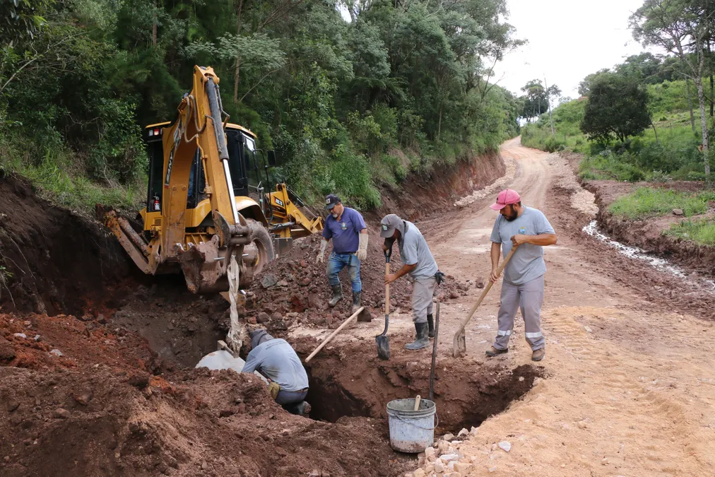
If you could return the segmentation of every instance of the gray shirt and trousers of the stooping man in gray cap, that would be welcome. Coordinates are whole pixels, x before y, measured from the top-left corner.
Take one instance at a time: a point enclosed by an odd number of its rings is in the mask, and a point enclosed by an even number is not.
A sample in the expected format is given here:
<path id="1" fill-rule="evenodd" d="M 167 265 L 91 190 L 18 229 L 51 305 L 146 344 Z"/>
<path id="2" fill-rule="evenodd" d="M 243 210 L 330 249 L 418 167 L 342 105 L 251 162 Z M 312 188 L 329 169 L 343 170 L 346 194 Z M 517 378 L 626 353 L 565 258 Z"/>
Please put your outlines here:
<path id="1" fill-rule="evenodd" d="M 405 228 L 405 234 L 398 240 L 400 258 L 405 265 L 417 264 L 410 272 L 413 278 L 412 320 L 414 323 L 427 323 L 427 315 L 432 314 L 432 297 L 437 286 L 437 262 L 417 226 L 405 220 Z"/>

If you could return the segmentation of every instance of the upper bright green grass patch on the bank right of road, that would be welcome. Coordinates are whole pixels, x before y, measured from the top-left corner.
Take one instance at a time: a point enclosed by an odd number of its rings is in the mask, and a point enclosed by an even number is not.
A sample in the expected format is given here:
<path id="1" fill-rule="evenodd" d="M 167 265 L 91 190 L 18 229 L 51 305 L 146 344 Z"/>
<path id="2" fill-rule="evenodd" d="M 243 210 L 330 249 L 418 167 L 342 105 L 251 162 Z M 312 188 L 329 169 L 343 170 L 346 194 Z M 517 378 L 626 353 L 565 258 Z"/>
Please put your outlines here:
<path id="1" fill-rule="evenodd" d="M 679 192 L 669 189 L 639 187 L 636 192 L 618 198 L 608 210 L 613 215 L 629 219 L 644 219 L 666 215 L 674 209 L 681 209 L 686 217 L 704 214 L 708 201 L 715 200 L 715 192 Z"/>

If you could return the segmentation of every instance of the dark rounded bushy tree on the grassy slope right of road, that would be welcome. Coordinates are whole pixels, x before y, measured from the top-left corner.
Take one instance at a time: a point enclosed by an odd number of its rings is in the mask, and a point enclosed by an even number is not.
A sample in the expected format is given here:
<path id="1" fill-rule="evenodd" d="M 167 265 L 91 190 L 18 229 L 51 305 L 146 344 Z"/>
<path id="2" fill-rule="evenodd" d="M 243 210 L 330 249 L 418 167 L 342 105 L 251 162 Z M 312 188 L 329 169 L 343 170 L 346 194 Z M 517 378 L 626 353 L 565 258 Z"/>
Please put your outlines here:
<path id="1" fill-rule="evenodd" d="M 588 139 L 624 142 L 651 124 L 648 93 L 636 82 L 613 73 L 602 73 L 591 83 L 580 128 Z"/>

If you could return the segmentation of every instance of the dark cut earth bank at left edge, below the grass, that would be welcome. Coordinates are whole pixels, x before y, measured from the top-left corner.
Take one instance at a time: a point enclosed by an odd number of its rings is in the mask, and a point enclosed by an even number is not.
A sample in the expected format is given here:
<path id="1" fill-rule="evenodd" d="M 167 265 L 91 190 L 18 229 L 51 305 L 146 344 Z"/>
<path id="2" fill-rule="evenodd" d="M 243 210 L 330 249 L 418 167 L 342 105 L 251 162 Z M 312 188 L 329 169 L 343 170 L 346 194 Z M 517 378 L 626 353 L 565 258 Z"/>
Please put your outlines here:
<path id="1" fill-rule="evenodd" d="M 4 310 L 48 315 L 111 308 L 110 290 L 138 273 L 104 227 L 11 176 L 0 177 L 0 267 Z"/>

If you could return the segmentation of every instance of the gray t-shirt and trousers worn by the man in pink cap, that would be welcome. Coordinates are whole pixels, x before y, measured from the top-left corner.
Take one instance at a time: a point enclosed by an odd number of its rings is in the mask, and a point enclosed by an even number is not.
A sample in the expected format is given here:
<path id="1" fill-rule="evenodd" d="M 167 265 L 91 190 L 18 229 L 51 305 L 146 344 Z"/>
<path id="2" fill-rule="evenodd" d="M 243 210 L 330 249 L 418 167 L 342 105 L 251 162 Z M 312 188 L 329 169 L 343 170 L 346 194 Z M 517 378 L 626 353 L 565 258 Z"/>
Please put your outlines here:
<path id="1" fill-rule="evenodd" d="M 490 240 L 501 244 L 504 257 L 511 251 L 511 237 L 514 235 L 553 234 L 553 227 L 540 210 L 524 207 L 522 214 L 511 222 L 499 215 L 494 222 Z M 521 308 L 524 318 L 526 341 L 532 350 L 544 347 L 546 340 L 541 332 L 541 305 L 543 304 L 543 275 L 546 262 L 543 247 L 524 243 L 519 245 L 514 255 L 504 267 L 501 285 L 501 306 L 497 318 L 498 331 L 494 348 L 506 350 L 509 337 L 514 329 L 516 310 Z"/>

